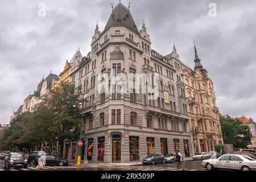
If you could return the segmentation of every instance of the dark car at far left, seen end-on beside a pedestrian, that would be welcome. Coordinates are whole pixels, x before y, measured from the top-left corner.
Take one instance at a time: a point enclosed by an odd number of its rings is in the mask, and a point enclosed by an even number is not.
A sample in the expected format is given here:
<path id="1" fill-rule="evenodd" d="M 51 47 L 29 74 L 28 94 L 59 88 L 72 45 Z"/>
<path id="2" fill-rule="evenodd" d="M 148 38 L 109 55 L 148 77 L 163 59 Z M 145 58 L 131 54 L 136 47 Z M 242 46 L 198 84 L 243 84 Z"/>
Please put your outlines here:
<path id="1" fill-rule="evenodd" d="M 27 168 L 27 159 L 24 154 L 21 153 L 10 153 L 5 156 L 5 169 L 10 169 L 11 167 Z"/>

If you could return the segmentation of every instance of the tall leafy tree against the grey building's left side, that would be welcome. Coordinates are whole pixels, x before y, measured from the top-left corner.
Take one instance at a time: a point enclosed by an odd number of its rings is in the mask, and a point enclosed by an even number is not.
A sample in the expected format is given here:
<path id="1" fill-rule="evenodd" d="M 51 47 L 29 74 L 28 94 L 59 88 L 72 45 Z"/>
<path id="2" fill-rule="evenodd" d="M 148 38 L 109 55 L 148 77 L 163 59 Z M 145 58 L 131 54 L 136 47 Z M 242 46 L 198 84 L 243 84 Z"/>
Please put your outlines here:
<path id="1" fill-rule="evenodd" d="M 46 131 L 52 140 L 60 145 L 60 155 L 63 157 L 64 140 L 77 140 L 80 129 L 80 102 L 81 92 L 71 84 L 61 82 L 56 89 L 49 90 L 43 97 L 44 109 L 37 109 L 42 117 L 52 120 Z M 76 105 L 76 107 L 73 107 Z M 46 115 L 42 113 L 47 113 Z"/>

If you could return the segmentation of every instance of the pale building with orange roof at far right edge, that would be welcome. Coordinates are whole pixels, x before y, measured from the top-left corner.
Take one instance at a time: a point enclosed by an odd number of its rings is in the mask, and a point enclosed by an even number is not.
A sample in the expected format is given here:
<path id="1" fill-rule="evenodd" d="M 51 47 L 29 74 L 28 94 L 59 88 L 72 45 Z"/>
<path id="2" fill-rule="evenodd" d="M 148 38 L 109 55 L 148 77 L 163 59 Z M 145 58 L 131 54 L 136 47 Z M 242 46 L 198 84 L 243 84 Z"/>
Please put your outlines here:
<path id="1" fill-rule="evenodd" d="M 250 149 L 256 149 L 256 123 L 253 119 L 247 119 L 246 117 L 237 118 L 238 120 L 243 122 L 243 125 L 249 126 L 251 132 L 251 144 L 247 146 Z"/>

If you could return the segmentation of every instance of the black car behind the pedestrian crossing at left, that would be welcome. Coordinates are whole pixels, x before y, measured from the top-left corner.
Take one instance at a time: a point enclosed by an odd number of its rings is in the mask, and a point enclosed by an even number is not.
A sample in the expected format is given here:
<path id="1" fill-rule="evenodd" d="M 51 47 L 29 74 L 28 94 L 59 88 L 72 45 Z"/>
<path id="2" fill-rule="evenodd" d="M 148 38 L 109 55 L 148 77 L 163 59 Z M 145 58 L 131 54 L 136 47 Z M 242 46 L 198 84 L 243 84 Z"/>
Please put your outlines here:
<path id="1" fill-rule="evenodd" d="M 44 151 L 31 152 L 28 156 L 28 163 L 31 165 L 38 164 L 38 158 L 40 157 L 40 154 L 45 154 L 47 166 L 68 166 L 68 160 L 60 159 L 57 156 L 51 155 Z"/>

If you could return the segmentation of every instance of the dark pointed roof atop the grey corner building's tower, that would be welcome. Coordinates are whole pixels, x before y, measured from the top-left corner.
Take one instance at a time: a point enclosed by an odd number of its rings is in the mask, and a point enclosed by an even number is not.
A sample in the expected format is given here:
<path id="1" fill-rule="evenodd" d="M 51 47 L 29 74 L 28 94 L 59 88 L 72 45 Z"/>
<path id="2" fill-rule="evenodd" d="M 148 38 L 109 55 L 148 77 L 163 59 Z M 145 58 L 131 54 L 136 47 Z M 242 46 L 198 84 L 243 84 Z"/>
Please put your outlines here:
<path id="1" fill-rule="evenodd" d="M 118 3 L 118 5 L 113 9 L 104 31 L 114 26 L 125 26 L 139 34 L 138 28 L 130 14 L 130 10 L 126 6 L 122 5 L 122 3 Z"/>

